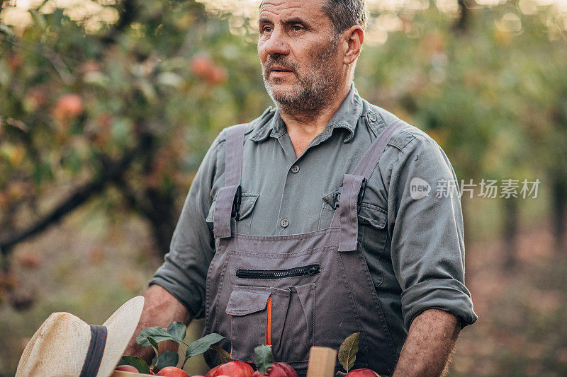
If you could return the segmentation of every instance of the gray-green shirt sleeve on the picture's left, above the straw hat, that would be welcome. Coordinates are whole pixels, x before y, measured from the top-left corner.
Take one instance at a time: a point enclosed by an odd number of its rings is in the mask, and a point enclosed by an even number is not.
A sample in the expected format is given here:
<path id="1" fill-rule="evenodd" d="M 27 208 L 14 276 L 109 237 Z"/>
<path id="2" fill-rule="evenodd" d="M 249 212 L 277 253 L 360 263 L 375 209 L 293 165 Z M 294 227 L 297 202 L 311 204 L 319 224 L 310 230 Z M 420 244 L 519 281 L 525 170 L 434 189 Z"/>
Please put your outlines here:
<path id="1" fill-rule="evenodd" d="M 204 315 L 205 286 L 210 260 L 215 253 L 212 224 L 206 222 L 213 198 L 218 137 L 198 168 L 181 216 L 169 245 L 164 263 L 157 269 L 150 285 L 157 284 L 179 300 L 193 315 Z"/>

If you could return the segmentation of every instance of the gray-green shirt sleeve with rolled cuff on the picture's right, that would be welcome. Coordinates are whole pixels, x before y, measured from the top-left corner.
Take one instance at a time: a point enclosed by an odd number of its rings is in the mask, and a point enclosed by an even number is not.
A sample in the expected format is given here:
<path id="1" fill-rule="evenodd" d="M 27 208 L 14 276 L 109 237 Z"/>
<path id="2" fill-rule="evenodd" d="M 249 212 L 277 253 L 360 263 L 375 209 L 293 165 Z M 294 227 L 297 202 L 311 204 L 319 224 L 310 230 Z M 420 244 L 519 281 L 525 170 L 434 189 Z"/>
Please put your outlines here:
<path id="1" fill-rule="evenodd" d="M 428 308 L 477 319 L 464 285 L 463 215 L 456 176 L 441 147 L 417 134 L 393 164 L 388 197 L 391 256 L 404 325 Z"/>

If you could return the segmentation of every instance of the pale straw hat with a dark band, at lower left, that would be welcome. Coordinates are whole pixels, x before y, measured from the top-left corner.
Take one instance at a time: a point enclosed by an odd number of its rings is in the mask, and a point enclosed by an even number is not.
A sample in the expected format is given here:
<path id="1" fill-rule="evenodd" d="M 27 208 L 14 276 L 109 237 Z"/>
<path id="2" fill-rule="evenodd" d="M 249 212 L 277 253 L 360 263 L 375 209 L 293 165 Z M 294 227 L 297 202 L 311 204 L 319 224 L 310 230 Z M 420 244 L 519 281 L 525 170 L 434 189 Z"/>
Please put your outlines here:
<path id="1" fill-rule="evenodd" d="M 136 296 L 102 326 L 89 325 L 70 313 L 52 313 L 23 350 L 16 377 L 110 376 L 134 335 L 143 307 L 144 298 Z"/>

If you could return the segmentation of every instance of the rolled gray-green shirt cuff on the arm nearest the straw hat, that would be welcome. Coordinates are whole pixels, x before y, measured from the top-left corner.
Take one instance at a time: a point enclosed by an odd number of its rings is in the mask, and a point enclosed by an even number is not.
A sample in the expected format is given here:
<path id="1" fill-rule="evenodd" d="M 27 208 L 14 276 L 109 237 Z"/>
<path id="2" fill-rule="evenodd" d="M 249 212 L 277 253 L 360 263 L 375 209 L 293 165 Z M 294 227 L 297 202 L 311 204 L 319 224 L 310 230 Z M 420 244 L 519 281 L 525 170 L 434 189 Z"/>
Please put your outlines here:
<path id="1" fill-rule="evenodd" d="M 166 259 L 164 264 L 157 269 L 148 285 L 153 284 L 161 286 L 169 294 L 172 294 L 185 306 L 193 318 L 203 318 L 204 310 L 201 305 L 203 300 L 197 292 L 191 290 L 191 286 L 194 286 L 193 282 L 173 262 Z"/>

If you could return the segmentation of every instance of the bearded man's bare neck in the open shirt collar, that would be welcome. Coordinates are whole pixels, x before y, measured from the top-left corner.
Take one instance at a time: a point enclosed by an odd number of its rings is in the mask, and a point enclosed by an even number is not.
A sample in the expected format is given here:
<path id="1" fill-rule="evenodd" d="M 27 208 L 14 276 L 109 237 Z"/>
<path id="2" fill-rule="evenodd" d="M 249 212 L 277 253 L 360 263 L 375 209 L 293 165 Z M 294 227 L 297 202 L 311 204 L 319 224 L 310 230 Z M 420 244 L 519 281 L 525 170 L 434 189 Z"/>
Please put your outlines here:
<path id="1" fill-rule="evenodd" d="M 281 119 L 286 124 L 291 144 L 296 151 L 296 157 L 301 156 L 310 142 L 325 129 L 332 116 L 339 110 L 344 98 L 347 98 L 349 91 L 350 84 L 335 95 L 330 105 L 320 109 L 316 114 L 289 114 L 279 108 Z"/>

